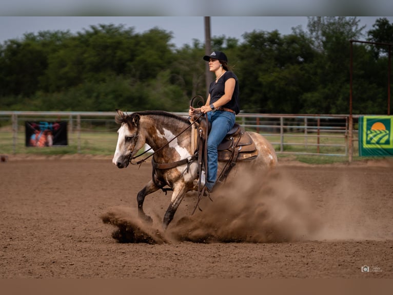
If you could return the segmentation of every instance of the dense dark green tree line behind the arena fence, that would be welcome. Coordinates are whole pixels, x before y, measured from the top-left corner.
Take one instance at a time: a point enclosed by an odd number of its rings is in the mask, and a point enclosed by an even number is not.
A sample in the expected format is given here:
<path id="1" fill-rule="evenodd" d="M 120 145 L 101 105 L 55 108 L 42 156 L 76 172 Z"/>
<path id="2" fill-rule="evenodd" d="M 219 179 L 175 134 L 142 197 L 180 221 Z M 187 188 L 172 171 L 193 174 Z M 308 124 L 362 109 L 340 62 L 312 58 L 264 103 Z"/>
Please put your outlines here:
<path id="1" fill-rule="evenodd" d="M 349 40 L 364 27 L 356 17 L 310 17 L 307 28 L 288 35 L 254 30 L 241 44 L 225 35 L 211 39 L 239 78 L 242 112 L 348 113 Z M 378 19 L 368 40 L 392 42 L 391 28 Z M 175 49 L 171 39 L 159 28 L 97 25 L 8 40 L 0 44 L 0 107 L 186 111 L 193 96 L 206 94 L 205 48 L 194 40 Z M 353 113 L 384 114 L 386 51 L 354 43 L 353 57 Z"/>

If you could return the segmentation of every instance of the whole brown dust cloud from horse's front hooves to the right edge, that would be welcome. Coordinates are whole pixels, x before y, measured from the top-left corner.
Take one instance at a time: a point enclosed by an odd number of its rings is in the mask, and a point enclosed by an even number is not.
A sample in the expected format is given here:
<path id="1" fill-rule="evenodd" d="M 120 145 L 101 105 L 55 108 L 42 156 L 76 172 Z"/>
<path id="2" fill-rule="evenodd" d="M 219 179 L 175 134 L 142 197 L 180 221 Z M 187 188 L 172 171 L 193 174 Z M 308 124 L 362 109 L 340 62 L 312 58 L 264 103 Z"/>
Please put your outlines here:
<path id="1" fill-rule="evenodd" d="M 118 228 L 112 234 L 115 239 L 132 243 L 360 241 L 392 234 L 391 186 L 379 183 L 378 175 L 335 169 L 329 180 L 319 178 L 318 171 L 312 181 L 295 180 L 301 177 L 282 168 L 243 173 L 213 192 L 212 200 L 203 197 L 202 211 L 178 216 L 166 231 L 160 214 L 152 216 L 153 224 L 147 225 L 130 208 L 112 209 L 103 221 Z M 364 191 L 377 183 L 379 190 L 373 190 L 376 193 L 370 202 Z"/>

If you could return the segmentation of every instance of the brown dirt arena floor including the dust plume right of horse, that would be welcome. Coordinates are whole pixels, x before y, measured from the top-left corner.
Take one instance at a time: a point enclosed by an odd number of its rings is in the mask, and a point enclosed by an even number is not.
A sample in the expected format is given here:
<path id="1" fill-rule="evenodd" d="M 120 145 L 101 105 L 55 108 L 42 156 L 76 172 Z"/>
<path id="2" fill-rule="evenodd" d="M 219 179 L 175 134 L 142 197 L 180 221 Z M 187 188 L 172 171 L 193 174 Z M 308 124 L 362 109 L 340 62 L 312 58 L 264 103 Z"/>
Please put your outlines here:
<path id="1" fill-rule="evenodd" d="M 120 243 L 104 221 L 137 222 L 150 163 L 9 156 L 0 163 L 0 278 L 391 279 L 392 172 L 390 160 L 282 161 L 204 198 L 193 215 L 188 193 L 165 233 L 170 192 L 159 191 L 144 208 L 163 239 Z"/>

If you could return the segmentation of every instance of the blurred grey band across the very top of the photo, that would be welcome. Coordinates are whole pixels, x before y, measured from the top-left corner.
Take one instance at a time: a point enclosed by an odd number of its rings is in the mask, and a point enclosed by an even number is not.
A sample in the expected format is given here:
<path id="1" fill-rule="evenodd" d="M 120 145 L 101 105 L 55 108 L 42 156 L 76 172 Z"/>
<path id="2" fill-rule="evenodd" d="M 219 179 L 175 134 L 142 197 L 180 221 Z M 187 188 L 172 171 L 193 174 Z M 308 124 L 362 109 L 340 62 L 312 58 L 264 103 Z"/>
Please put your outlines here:
<path id="1" fill-rule="evenodd" d="M 0 15 L 381 15 L 392 8 L 391 0 L 2 0 Z"/>

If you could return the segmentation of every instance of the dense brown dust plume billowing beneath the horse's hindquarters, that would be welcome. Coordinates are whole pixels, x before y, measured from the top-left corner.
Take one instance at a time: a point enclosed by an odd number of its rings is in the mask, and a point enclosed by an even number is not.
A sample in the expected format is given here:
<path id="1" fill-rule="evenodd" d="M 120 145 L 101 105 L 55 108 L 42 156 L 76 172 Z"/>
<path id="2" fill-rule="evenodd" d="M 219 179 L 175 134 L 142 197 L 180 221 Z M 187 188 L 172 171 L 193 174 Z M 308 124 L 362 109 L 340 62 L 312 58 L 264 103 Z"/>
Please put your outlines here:
<path id="1" fill-rule="evenodd" d="M 310 198 L 279 171 L 249 171 L 205 199 L 202 212 L 176 224 L 193 242 L 276 243 L 309 239 L 320 220 Z M 182 222 L 183 221 L 183 222 Z"/>

